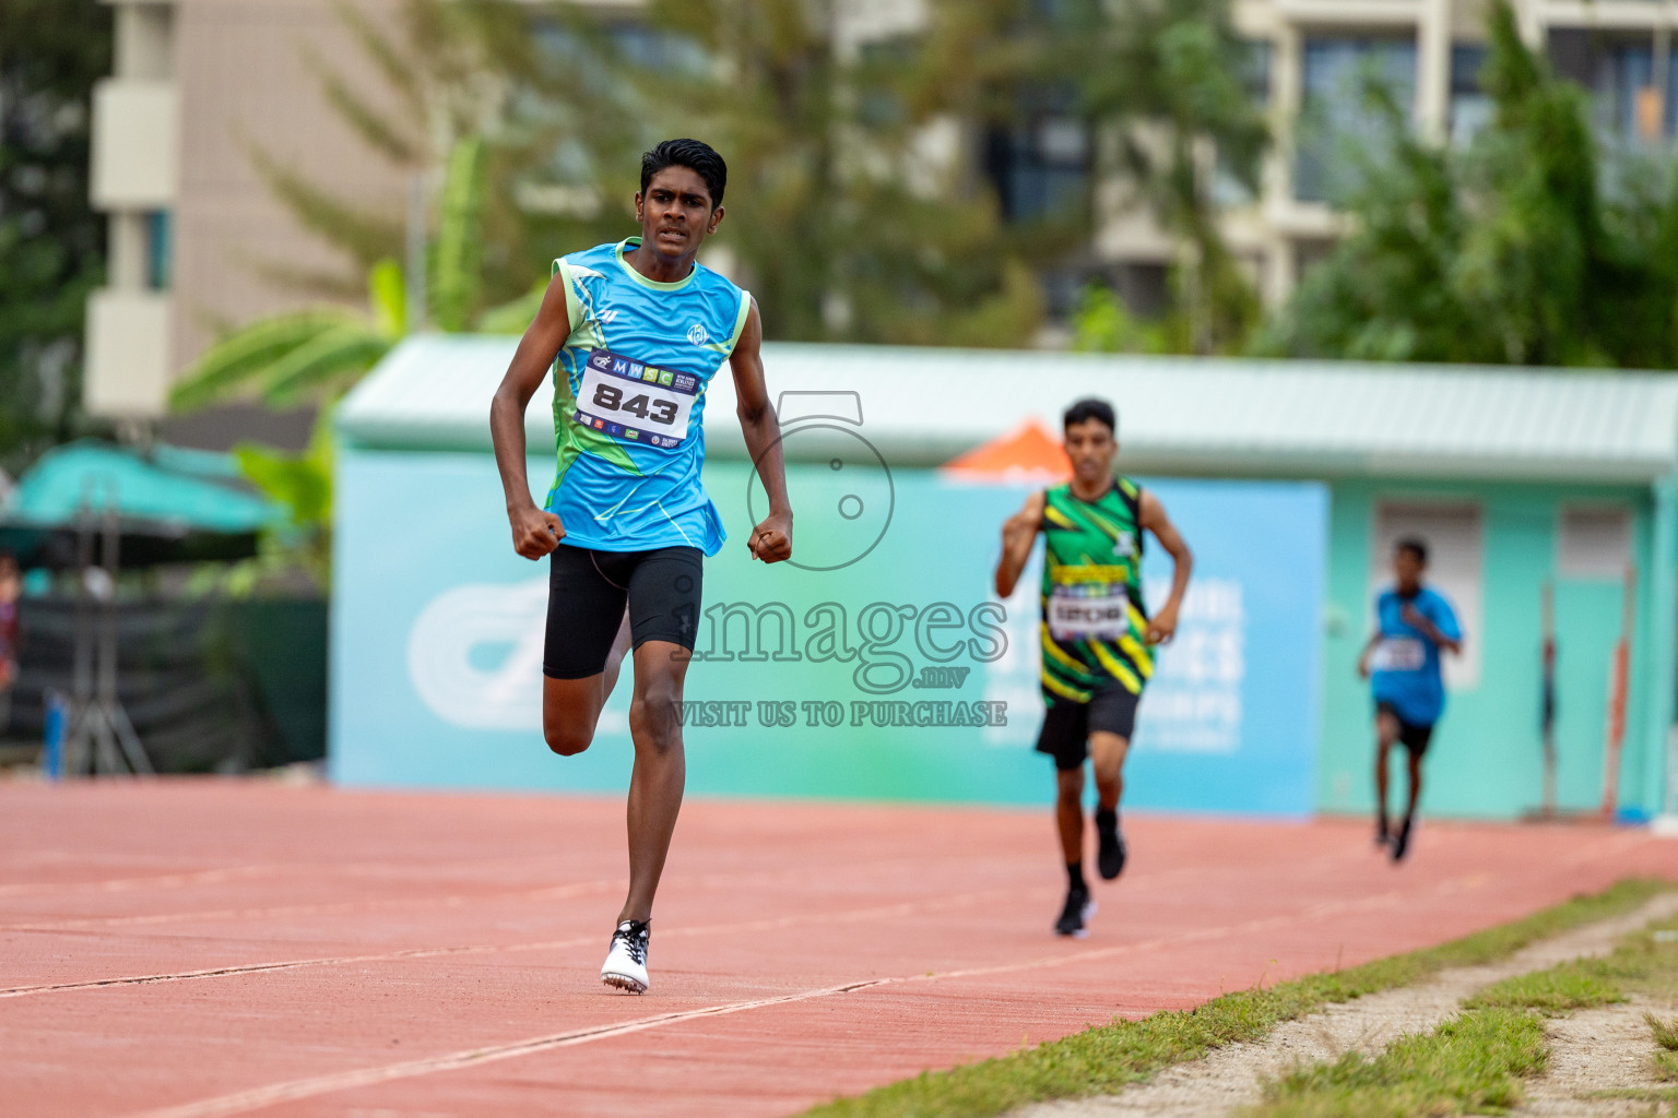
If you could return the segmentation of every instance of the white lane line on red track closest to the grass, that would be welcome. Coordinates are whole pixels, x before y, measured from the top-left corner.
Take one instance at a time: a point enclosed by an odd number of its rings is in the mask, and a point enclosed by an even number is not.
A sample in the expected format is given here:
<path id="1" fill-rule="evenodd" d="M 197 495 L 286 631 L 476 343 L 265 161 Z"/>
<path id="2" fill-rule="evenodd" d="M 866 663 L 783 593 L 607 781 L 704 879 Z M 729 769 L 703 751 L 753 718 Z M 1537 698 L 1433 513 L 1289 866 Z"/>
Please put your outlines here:
<path id="1" fill-rule="evenodd" d="M 1463 892 L 1483 887 L 1490 880 L 1493 880 L 1490 873 L 1468 873 L 1462 877 L 1445 878 L 1443 882 L 1438 882 L 1423 892 L 1428 893 Z M 802 991 L 797 994 L 780 994 L 775 997 L 762 997 L 745 1002 L 725 1002 L 722 1006 L 706 1006 L 703 1009 L 686 1009 L 680 1012 L 654 1014 L 649 1017 L 638 1017 L 634 1021 L 626 1021 L 623 1024 L 597 1026 L 592 1029 L 559 1033 L 554 1036 L 537 1036 L 525 1041 L 513 1041 L 510 1044 L 495 1044 L 490 1048 L 465 1049 L 460 1053 L 448 1053 L 443 1056 L 430 1056 L 425 1059 L 409 1059 L 398 1064 L 384 1064 L 381 1068 L 357 1068 L 354 1071 L 339 1071 L 326 1076 L 310 1076 L 307 1079 L 289 1079 L 285 1083 L 270 1083 L 267 1086 L 252 1088 L 247 1091 L 235 1091 L 232 1095 L 218 1095 L 215 1098 L 200 1100 L 196 1103 L 164 1106 L 161 1110 L 148 1110 L 136 1115 L 129 1115 L 128 1118 L 230 1118 L 232 1115 L 245 1115 L 255 1110 L 263 1110 L 267 1106 L 292 1103 L 304 1098 L 315 1098 L 319 1095 L 334 1095 L 337 1091 L 349 1091 L 361 1086 L 391 1083 L 394 1079 L 411 1079 L 416 1076 L 436 1074 L 441 1071 L 456 1071 L 460 1068 L 472 1068 L 475 1064 L 487 1064 L 502 1059 L 515 1059 L 519 1056 L 534 1056 L 537 1053 L 545 1053 L 559 1048 L 572 1048 L 577 1044 L 589 1044 L 592 1041 L 606 1041 L 616 1036 L 626 1036 L 629 1033 L 643 1033 L 646 1029 L 658 1029 L 668 1024 L 681 1024 L 685 1021 L 695 1021 L 700 1017 L 722 1017 L 728 1014 L 745 1012 L 748 1009 L 789 1006 L 794 1002 L 814 1001 L 817 997 L 832 997 L 834 994 L 851 994 L 866 989 L 881 989 L 886 986 L 906 986 L 913 982 L 941 982 L 948 979 L 1010 974 L 1019 970 L 1039 970 L 1045 967 L 1089 962 L 1094 959 L 1109 959 L 1113 955 L 1158 950 L 1161 947 L 1173 947 L 1183 942 L 1200 942 L 1208 939 L 1220 939 L 1228 935 L 1267 930 L 1274 927 L 1287 927 L 1289 924 L 1317 920 L 1322 919 L 1324 915 L 1391 907 L 1399 902 L 1411 902 L 1411 900 L 1415 900 L 1413 893 L 1389 890 L 1386 893 L 1378 893 L 1374 897 L 1363 897 L 1359 900 L 1316 903 L 1287 915 L 1243 920 L 1240 924 L 1228 924 L 1215 929 L 1200 929 L 1196 932 L 1186 932 L 1181 935 L 1161 935 L 1136 944 L 1119 944 L 1114 947 L 1074 950 L 1060 955 L 1042 955 L 1037 959 L 1025 959 L 992 967 L 967 967 L 960 970 L 943 970 L 933 974 L 921 972 L 901 977 L 868 979 L 861 982 L 846 982 L 844 986 L 827 986 L 814 991 Z"/>

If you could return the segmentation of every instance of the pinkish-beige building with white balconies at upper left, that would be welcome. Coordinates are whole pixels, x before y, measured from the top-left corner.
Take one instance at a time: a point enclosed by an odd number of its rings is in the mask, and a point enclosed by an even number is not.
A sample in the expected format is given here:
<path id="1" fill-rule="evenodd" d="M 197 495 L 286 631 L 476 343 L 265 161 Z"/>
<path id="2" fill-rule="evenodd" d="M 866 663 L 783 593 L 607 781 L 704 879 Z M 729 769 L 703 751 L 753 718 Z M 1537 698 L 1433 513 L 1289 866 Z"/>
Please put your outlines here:
<path id="1" fill-rule="evenodd" d="M 327 101 L 322 67 L 381 94 L 331 0 L 107 2 L 116 62 L 94 91 L 91 189 L 111 221 L 109 280 L 87 308 L 84 404 L 148 424 L 218 330 L 317 302 L 280 272 L 344 272 L 274 196 L 258 153 L 369 208 L 403 206 L 408 186 Z"/>

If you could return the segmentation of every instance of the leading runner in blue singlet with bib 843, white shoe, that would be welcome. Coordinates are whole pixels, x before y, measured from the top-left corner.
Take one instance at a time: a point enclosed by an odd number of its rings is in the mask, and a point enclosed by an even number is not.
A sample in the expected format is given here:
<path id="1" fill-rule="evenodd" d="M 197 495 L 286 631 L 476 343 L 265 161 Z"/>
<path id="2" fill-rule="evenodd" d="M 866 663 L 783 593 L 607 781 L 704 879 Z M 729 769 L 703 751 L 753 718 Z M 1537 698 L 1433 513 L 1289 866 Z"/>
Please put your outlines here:
<path id="1" fill-rule="evenodd" d="M 700 484 L 705 391 L 725 360 L 769 496 L 769 516 L 747 546 L 765 563 L 792 555 L 757 303 L 695 261 L 723 220 L 727 176 L 722 156 L 696 139 L 646 153 L 634 196 L 641 236 L 554 261 L 542 308 L 490 406 L 513 550 L 552 556 L 542 732 L 554 753 L 589 748 L 634 645 L 629 895 L 601 967 L 601 981 L 633 994 L 648 989 L 653 893 L 686 778 L 678 704 L 700 613 L 700 560 L 717 555 L 725 536 Z M 559 464 L 545 508 L 537 508 L 524 414 L 549 369 Z"/>

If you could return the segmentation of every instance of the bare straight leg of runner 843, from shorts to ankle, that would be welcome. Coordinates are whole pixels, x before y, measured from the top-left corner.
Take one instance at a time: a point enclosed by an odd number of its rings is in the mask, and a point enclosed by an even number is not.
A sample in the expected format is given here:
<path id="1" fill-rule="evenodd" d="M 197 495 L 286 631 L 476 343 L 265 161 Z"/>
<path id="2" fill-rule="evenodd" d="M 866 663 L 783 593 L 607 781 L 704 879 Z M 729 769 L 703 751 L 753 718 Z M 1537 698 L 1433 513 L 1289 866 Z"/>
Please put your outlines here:
<path id="1" fill-rule="evenodd" d="M 688 761 L 681 748 L 681 687 L 693 654 L 670 640 L 646 640 L 634 650 L 634 697 L 629 736 L 629 897 L 618 920 L 646 920 L 676 830 Z"/>

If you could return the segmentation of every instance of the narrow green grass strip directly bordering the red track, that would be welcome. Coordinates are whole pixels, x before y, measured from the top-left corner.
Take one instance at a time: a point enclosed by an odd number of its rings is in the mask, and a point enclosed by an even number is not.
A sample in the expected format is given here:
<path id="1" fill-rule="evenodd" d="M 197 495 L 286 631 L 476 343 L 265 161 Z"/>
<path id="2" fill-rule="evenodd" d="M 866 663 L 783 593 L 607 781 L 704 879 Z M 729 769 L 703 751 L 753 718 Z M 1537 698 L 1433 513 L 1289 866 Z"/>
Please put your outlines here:
<path id="1" fill-rule="evenodd" d="M 1438 947 L 1346 970 L 1312 974 L 1270 989 L 1223 994 L 1193 1009 L 1163 1011 L 1141 1021 L 1114 1021 L 1010 1056 L 930 1071 L 866 1095 L 822 1103 L 805 1111 L 805 1118 L 983 1118 L 1052 1098 L 1113 1095 L 1223 1044 L 1262 1041 L 1277 1024 L 1304 1017 L 1327 1004 L 1410 986 L 1446 967 L 1495 962 L 1527 944 L 1623 915 L 1666 888 L 1665 882 L 1619 882 L 1601 893 L 1576 897 Z M 1529 1016 L 1517 1011 L 1497 1012 L 1509 1017 Z M 1542 1033 L 1539 1038 L 1542 1041 Z M 1519 1038 L 1510 1034 L 1507 1039 L 1510 1059 L 1517 1059 Z"/>

